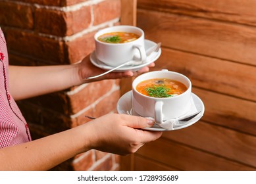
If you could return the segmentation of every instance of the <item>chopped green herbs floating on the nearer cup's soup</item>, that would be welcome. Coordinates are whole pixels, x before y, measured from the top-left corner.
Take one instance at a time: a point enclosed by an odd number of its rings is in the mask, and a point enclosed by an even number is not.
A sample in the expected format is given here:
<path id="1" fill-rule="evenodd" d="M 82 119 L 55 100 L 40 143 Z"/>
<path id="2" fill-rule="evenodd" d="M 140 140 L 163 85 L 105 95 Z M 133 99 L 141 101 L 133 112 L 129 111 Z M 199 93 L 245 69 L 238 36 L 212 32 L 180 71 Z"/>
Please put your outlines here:
<path id="1" fill-rule="evenodd" d="M 150 97 L 157 97 L 157 98 L 172 97 L 172 95 L 167 94 L 168 91 L 170 91 L 170 89 L 166 88 L 163 85 L 147 87 L 145 90 L 147 91 Z"/>

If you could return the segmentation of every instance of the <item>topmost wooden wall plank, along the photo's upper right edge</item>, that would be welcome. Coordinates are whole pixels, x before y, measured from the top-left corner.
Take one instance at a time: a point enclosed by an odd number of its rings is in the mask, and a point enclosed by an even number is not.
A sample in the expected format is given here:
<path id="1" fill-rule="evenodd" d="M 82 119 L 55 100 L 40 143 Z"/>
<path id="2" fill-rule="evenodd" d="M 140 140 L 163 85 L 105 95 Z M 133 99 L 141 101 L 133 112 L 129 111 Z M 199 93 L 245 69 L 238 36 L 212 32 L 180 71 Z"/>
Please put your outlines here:
<path id="1" fill-rule="evenodd" d="M 256 2 L 254 0 L 140 0 L 138 1 L 138 9 L 256 25 Z"/>

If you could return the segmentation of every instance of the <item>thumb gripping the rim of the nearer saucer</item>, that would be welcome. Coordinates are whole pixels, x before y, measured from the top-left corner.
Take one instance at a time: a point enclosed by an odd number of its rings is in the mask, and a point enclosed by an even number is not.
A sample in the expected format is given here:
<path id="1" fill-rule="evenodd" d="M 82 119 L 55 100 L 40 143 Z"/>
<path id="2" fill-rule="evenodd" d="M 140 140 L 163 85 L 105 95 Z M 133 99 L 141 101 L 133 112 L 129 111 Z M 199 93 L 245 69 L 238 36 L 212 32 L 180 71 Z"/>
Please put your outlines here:
<path id="1" fill-rule="evenodd" d="M 133 116 L 132 121 L 129 122 L 129 127 L 133 128 L 144 128 L 144 127 L 151 127 L 155 123 L 153 118 L 143 118 L 140 116 Z"/>

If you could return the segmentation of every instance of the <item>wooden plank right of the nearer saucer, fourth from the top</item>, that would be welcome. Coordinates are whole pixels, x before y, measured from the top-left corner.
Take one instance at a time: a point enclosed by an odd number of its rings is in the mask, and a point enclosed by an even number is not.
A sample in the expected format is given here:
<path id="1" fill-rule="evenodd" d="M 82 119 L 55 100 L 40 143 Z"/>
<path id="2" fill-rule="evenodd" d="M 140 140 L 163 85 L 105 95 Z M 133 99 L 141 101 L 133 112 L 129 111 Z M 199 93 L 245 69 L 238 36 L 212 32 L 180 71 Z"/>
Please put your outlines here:
<path id="1" fill-rule="evenodd" d="M 203 120 L 256 136 L 256 103 L 193 88 L 205 104 Z"/>

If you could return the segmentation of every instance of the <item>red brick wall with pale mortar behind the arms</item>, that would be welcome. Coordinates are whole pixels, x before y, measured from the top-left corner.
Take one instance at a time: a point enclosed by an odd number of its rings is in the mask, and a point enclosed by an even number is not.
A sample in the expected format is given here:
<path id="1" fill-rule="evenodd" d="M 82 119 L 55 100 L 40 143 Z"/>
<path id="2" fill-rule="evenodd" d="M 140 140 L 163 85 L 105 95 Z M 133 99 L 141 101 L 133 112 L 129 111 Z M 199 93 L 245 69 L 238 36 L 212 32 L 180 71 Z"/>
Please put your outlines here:
<path id="1" fill-rule="evenodd" d="M 0 26 L 7 38 L 10 64 L 72 64 L 90 54 L 93 34 L 119 24 L 120 0 L 0 1 Z M 32 138 L 38 139 L 116 111 L 118 80 L 72 87 L 18 102 Z M 53 170 L 118 170 L 115 154 L 90 150 Z"/>

